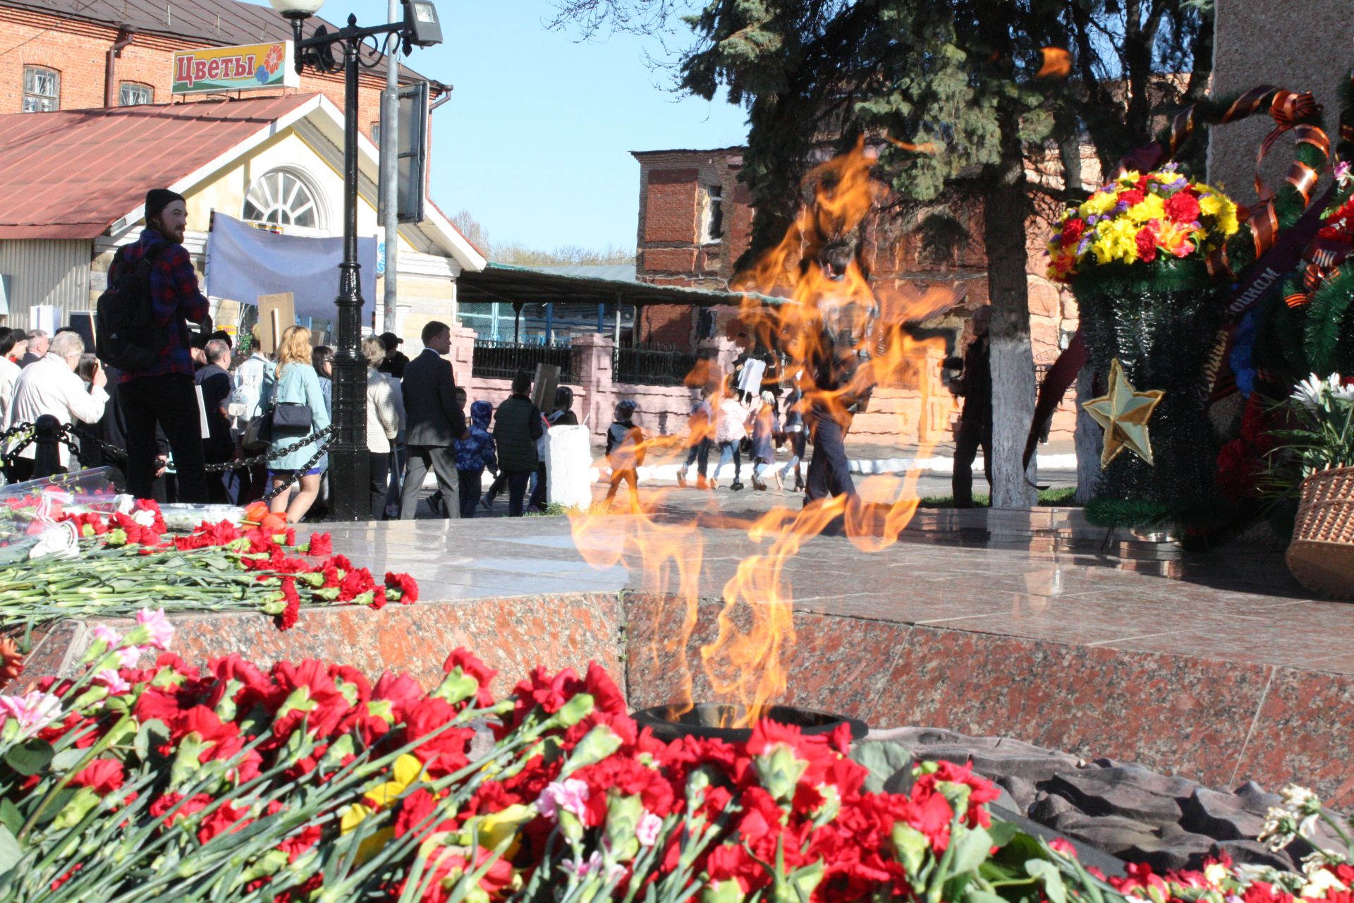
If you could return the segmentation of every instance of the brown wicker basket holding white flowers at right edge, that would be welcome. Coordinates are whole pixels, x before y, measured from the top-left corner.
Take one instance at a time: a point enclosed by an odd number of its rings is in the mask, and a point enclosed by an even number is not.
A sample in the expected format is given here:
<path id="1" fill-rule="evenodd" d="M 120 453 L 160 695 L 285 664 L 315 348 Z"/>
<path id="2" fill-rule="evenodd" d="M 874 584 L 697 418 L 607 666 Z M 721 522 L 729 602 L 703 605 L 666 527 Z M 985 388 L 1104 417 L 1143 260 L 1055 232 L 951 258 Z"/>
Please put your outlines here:
<path id="1" fill-rule="evenodd" d="M 1286 558 L 1307 589 L 1354 598 L 1354 467 L 1332 467 L 1303 481 Z"/>

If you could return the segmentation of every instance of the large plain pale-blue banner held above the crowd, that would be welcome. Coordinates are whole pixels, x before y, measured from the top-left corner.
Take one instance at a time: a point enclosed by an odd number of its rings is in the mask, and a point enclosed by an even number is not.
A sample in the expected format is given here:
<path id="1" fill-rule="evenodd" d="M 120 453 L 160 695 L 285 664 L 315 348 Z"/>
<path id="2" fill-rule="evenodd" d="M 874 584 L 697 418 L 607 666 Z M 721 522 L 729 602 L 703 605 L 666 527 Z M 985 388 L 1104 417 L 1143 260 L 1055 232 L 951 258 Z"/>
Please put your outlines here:
<path id="1" fill-rule="evenodd" d="M 290 291 L 298 317 L 334 318 L 343 238 L 279 236 L 219 213 L 207 238 L 207 294 L 248 305 Z M 376 240 L 357 240 L 362 322 L 376 299 Z"/>

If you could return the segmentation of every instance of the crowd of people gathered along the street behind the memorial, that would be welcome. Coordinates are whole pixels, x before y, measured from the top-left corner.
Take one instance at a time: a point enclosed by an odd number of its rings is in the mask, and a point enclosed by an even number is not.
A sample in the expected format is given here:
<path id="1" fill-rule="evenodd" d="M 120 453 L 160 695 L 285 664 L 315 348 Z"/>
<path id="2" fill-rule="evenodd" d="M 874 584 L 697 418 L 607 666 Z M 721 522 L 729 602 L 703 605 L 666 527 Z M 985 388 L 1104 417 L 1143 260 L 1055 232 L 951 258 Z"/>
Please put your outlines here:
<path id="1" fill-rule="evenodd" d="M 118 291 L 139 284 L 145 294 L 146 320 L 137 341 L 146 349 L 139 363 L 122 370 L 107 366 L 70 326 L 50 336 L 41 329 L 0 328 L 0 431 L 43 414 L 83 424 L 81 459 L 121 467 L 127 490 L 141 498 L 238 505 L 268 495 L 271 510 L 292 523 L 322 514 L 328 508 L 325 436 L 333 418 L 333 349 L 315 345 L 307 328 L 292 325 L 276 338 L 275 352 L 264 353 L 255 326 L 248 353 L 234 353 L 232 336 L 211 329 L 207 299 L 183 246 L 183 196 L 152 190 L 145 214 L 146 227 L 118 250 L 108 271 L 108 283 Z M 972 318 L 974 340 L 965 355 L 946 360 L 946 367 L 963 370 L 955 391 L 965 397 L 956 431 L 959 505 L 971 504 L 971 463 L 979 448 L 990 467 L 986 326 L 983 307 Z M 451 328 L 428 322 L 421 341 L 414 359 L 399 351 L 402 338 L 394 333 L 362 341 L 371 517 L 413 519 L 429 475 L 437 491 L 428 504 L 441 517 L 473 517 L 479 506 L 492 509 L 504 490 L 509 516 L 544 510 L 547 431 L 577 425 L 573 393 L 559 387 L 547 416 L 531 398 L 531 375 L 523 372 L 497 410 L 478 399 L 467 418 L 467 394 L 456 386 L 445 357 Z M 768 489 L 768 474 L 780 489 L 793 474 L 795 491 L 806 491 L 808 500 L 854 497 L 844 445 L 849 413 L 826 410 L 821 399 L 808 403 L 795 379 L 779 378 L 776 366 L 773 355 L 754 348 L 727 380 L 703 393 L 691 416 L 689 452 L 677 474 L 681 486 L 695 466 L 696 486 L 718 489 L 716 477 L 731 464 L 728 489 L 741 490 L 746 455 L 757 490 Z M 819 375 L 819 382 L 829 376 Z M 621 401 L 607 429 L 608 504 L 621 486 L 628 487 L 631 502 L 638 500 L 647 443 L 635 414 L 635 403 Z M 802 463 L 808 441 L 815 452 L 806 478 Z M 37 444 L 19 444 L 15 451 L 11 441 L 5 449 L 9 482 L 34 475 Z M 715 448 L 719 458 L 709 474 Z M 788 454 L 780 466 L 777 448 Z M 60 467 L 68 467 L 65 444 L 57 452 Z M 209 464 L 215 466 L 210 472 Z M 481 494 L 485 471 L 494 479 Z"/>

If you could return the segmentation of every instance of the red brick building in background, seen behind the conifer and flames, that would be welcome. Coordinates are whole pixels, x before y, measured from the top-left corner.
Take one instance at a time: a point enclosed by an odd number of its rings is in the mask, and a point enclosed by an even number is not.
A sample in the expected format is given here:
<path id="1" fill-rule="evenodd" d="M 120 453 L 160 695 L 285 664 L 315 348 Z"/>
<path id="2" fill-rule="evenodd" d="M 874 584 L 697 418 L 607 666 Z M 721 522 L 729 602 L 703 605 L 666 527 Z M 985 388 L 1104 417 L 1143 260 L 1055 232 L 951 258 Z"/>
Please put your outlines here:
<path id="1" fill-rule="evenodd" d="M 640 282 L 728 288 L 734 265 L 751 237 L 751 196 L 738 181 L 742 154 L 742 148 L 634 152 L 639 161 Z M 976 238 L 982 230 L 976 204 L 937 203 L 903 219 L 881 214 L 876 206 L 867 218 L 861 253 L 886 322 L 906 322 L 902 311 L 911 299 L 938 295 L 948 302 L 926 320 L 906 325 L 914 337 L 940 340 L 932 343 L 927 360 L 917 361 L 915 384 L 884 387 L 871 412 L 857 418 L 854 433 L 896 433 L 898 414 L 907 408 L 914 409 L 904 420 L 915 437 L 937 439 L 948 431 L 957 408 L 945 390 L 938 359 L 955 353 L 963 344 L 968 313 L 988 302 L 987 260 Z M 1075 333 L 1076 307 L 1070 292 L 1043 275 L 1043 223 L 1032 221 L 1028 234 L 1030 340 L 1036 367 L 1047 367 Z M 730 326 L 735 315 L 735 310 L 726 309 L 714 332 L 737 329 Z M 699 334 L 699 311 L 692 307 L 646 307 L 639 313 L 636 332 L 640 341 L 655 345 L 693 347 L 704 338 Z M 1053 432 L 1070 436 L 1074 421 L 1068 398 Z"/>

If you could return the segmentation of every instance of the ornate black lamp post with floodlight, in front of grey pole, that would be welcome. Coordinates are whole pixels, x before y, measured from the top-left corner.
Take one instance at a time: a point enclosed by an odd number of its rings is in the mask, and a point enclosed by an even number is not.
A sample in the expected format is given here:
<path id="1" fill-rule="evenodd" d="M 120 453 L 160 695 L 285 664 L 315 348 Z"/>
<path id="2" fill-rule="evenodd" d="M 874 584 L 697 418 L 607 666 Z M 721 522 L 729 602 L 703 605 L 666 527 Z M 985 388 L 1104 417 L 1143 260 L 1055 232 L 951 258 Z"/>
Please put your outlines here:
<path id="1" fill-rule="evenodd" d="M 429 0 L 402 0 L 403 22 L 391 22 L 370 28 L 357 27 L 357 16 L 348 16 L 348 24 L 337 31 L 320 26 L 310 38 L 302 39 L 302 23 L 320 11 L 324 0 L 268 0 L 274 9 L 291 20 L 295 41 L 295 66 L 301 73 L 309 65 L 320 72 L 344 73 L 343 104 L 343 263 L 338 264 L 338 334 L 334 349 L 333 425 L 329 445 L 329 487 L 334 520 L 368 520 L 371 497 L 367 451 L 367 359 L 362 355 L 362 282 L 357 278 L 357 68 L 374 68 L 387 53 L 382 43 L 374 47 L 375 57 L 362 58 L 362 47 L 368 41 L 398 35 L 403 51 L 413 45 L 441 43 L 437 11 Z M 334 60 L 334 49 L 343 61 Z M 397 45 L 398 47 L 398 45 Z M 395 141 L 395 135 L 382 135 Z M 394 203 L 394 198 L 390 200 Z"/>

